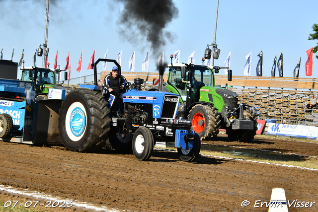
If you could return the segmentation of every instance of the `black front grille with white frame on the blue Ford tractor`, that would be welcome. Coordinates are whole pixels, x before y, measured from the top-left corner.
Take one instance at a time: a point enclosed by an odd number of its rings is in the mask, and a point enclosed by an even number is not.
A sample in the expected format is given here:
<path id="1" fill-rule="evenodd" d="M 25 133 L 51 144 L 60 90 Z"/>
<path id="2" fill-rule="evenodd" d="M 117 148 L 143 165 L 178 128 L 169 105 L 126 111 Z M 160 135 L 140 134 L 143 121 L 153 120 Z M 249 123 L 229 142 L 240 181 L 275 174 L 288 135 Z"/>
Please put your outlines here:
<path id="1" fill-rule="evenodd" d="M 179 104 L 179 96 L 164 95 L 161 118 L 174 119 Z"/>

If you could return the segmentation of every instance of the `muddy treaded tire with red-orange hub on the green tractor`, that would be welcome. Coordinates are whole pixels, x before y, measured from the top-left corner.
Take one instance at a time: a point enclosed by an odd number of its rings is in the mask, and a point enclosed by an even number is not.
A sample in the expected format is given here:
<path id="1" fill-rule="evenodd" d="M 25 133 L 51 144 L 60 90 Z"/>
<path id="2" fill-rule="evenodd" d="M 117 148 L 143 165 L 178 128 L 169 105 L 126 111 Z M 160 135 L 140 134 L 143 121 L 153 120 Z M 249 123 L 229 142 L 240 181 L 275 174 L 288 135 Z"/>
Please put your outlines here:
<path id="1" fill-rule="evenodd" d="M 191 130 L 201 140 L 210 140 L 219 134 L 221 115 L 215 107 L 197 104 L 190 110 L 188 119 L 192 121 Z"/>

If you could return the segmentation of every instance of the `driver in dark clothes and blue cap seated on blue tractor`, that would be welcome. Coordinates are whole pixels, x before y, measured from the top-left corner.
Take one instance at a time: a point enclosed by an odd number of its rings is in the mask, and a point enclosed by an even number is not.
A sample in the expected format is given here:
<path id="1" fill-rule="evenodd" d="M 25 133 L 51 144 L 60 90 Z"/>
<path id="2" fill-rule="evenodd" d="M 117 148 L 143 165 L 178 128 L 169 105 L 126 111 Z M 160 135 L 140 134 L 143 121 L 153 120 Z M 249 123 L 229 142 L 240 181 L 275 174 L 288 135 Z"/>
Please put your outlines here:
<path id="1" fill-rule="evenodd" d="M 123 103 L 123 94 L 124 94 L 124 83 L 127 83 L 127 80 L 124 76 L 119 75 L 118 67 L 113 67 L 112 71 L 105 76 L 104 79 L 104 90 L 102 94 L 108 99 L 109 109 L 111 111 L 118 111 L 121 114 L 124 114 L 124 103 Z M 120 86 L 119 86 L 120 85 Z M 118 106 L 120 105 L 120 109 Z"/>

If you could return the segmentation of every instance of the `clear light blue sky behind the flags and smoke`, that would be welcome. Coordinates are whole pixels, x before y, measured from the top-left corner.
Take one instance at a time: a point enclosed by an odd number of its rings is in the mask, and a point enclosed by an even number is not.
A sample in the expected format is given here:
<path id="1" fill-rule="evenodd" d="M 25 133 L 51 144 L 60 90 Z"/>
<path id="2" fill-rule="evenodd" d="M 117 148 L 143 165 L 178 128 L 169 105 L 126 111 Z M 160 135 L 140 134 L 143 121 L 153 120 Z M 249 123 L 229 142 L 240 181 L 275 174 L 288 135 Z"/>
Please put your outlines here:
<path id="1" fill-rule="evenodd" d="M 202 64 L 207 44 L 214 39 L 217 0 L 173 0 L 178 16 L 164 31 L 171 33 L 162 47 L 165 62 L 169 55 L 180 50 L 181 62 L 196 51 L 196 64 Z M 24 49 L 25 66 L 33 65 L 33 55 L 44 43 L 46 0 L 0 0 L 0 48 L 3 59 L 10 60 L 14 47 L 14 62 L 19 62 Z M 223 66 L 232 53 L 233 75 L 243 75 L 245 56 L 252 52 L 251 75 L 256 76 L 257 55 L 263 51 L 263 76 L 270 76 L 273 60 L 283 52 L 284 76 L 292 77 L 301 57 L 300 77 L 305 76 L 306 50 L 317 45 L 308 40 L 312 26 L 318 23 L 317 0 L 219 0 L 216 44 L 221 49 L 215 66 Z M 87 70 L 93 51 L 95 60 L 103 58 L 108 49 L 108 59 L 117 59 L 122 50 L 122 71 L 128 71 L 128 61 L 136 51 L 135 71 L 141 71 L 142 62 L 151 44 L 140 37 L 130 42 L 119 29 L 118 21 L 123 4 L 114 0 L 51 0 L 48 30 L 48 62 L 53 67 L 58 50 L 58 64 L 64 69 L 70 50 L 71 78 L 79 77 L 76 71 L 81 50 L 82 73 Z M 129 33 L 129 32 L 128 32 Z M 150 71 L 156 71 L 159 55 L 150 52 Z M 318 60 L 314 55 L 313 77 L 318 77 Z M 42 58 L 37 57 L 37 65 Z M 107 71 L 112 64 L 108 64 Z M 101 64 L 98 72 L 102 71 Z M 223 74 L 221 71 L 219 74 Z M 19 78 L 20 75 L 18 75 Z M 278 71 L 276 68 L 276 76 Z"/>

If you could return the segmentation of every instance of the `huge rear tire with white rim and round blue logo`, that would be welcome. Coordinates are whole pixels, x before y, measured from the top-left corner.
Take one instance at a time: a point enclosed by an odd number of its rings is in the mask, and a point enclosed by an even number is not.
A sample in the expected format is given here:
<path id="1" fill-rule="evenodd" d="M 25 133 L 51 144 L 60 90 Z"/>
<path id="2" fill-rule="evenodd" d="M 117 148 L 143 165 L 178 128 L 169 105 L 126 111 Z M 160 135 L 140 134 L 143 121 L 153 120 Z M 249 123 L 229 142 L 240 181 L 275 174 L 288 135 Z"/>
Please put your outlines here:
<path id="1" fill-rule="evenodd" d="M 62 102 L 59 131 L 64 146 L 77 152 L 97 152 L 108 139 L 108 103 L 100 92 L 72 90 Z"/>

